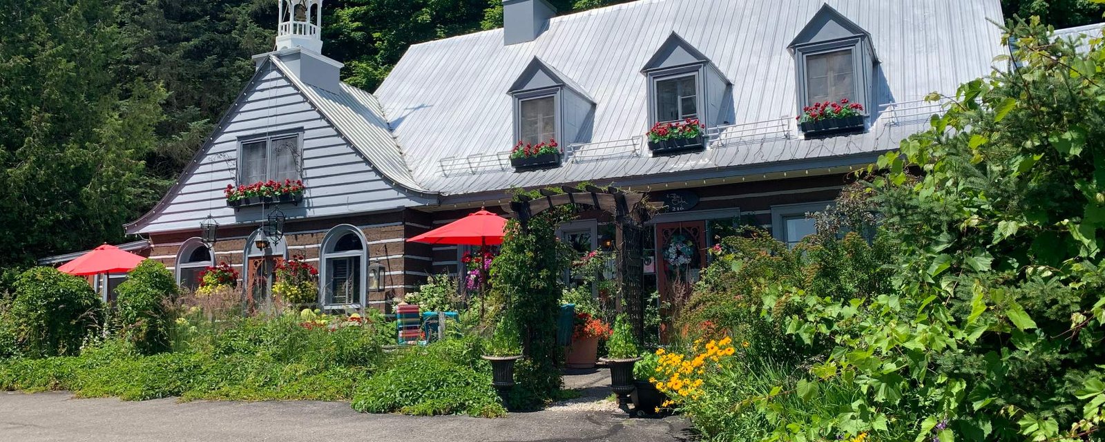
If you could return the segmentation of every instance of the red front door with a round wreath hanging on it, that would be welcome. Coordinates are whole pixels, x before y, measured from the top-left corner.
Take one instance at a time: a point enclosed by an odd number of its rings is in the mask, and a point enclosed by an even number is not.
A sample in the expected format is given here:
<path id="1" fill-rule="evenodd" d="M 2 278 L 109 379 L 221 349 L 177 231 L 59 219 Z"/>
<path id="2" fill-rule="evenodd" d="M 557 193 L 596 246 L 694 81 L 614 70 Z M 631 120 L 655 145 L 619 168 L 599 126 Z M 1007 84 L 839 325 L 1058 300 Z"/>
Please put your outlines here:
<path id="1" fill-rule="evenodd" d="M 691 296 L 691 288 L 706 265 L 706 222 L 656 224 L 656 283 L 661 303 L 676 312 Z"/>

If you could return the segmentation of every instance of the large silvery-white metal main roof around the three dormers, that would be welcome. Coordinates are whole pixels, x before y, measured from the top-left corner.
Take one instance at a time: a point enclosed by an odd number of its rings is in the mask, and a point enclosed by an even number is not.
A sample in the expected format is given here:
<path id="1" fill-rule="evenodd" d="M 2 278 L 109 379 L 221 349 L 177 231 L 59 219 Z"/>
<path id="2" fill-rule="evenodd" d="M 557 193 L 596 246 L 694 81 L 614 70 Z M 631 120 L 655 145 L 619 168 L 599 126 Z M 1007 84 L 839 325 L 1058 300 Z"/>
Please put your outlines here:
<path id="1" fill-rule="evenodd" d="M 793 122 L 787 45 L 825 3 L 871 33 L 882 62 L 881 106 L 866 134 L 804 140 Z M 528 43 L 506 46 L 498 29 L 415 44 L 376 96 L 412 179 L 445 194 L 867 161 L 924 127 L 933 109 L 916 101 L 934 91 L 953 94 L 1007 53 L 989 20 L 1001 20 L 998 0 L 640 0 L 555 18 Z M 652 158 L 641 137 L 649 122 L 640 71 L 673 31 L 733 83 L 736 122 L 713 129 L 716 141 L 705 152 Z M 516 141 L 506 91 L 534 57 L 594 99 L 594 143 L 569 147 L 560 168 L 516 173 L 505 156 Z"/>

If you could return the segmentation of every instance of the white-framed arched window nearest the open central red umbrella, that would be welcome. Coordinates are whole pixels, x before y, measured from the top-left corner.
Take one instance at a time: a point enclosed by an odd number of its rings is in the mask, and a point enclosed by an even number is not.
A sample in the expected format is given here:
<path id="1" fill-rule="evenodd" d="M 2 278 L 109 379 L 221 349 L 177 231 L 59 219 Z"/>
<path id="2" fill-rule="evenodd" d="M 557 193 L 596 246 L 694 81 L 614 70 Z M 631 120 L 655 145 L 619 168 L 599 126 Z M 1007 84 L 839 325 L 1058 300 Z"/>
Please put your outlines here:
<path id="1" fill-rule="evenodd" d="M 323 305 L 362 307 L 368 252 L 360 230 L 348 224 L 330 229 L 323 239 L 320 257 L 319 288 Z"/>

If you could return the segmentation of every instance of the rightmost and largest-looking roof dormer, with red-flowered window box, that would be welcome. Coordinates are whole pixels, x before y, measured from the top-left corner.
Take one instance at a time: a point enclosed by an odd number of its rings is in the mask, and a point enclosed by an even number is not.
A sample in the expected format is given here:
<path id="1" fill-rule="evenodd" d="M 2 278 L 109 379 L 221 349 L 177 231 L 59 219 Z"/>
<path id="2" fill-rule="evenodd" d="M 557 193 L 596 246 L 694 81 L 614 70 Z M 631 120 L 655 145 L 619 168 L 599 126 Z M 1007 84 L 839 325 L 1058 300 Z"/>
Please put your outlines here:
<path id="1" fill-rule="evenodd" d="M 794 54 L 798 80 L 797 115 L 807 137 L 862 133 L 866 129 L 864 109 L 874 105 L 874 66 L 878 63 L 871 34 L 825 4 L 802 28 L 788 46 Z M 810 118 L 808 107 L 849 104 L 861 115 Z M 818 115 L 813 112 L 813 115 Z"/>

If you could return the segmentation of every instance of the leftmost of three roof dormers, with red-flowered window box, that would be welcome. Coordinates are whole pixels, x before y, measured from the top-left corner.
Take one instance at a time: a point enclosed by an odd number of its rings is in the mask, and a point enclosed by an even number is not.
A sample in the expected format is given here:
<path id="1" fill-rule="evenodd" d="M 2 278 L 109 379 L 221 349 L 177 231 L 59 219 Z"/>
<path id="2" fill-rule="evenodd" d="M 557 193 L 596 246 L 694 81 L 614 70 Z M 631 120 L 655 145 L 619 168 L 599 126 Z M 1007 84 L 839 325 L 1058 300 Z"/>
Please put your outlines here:
<path id="1" fill-rule="evenodd" d="M 519 171 L 560 166 L 560 146 L 585 137 L 581 131 L 594 118 L 594 102 L 582 88 L 536 57 L 507 93 L 514 98 L 516 144 L 504 148 Z"/>

